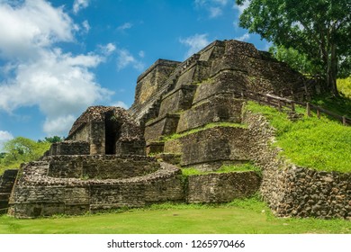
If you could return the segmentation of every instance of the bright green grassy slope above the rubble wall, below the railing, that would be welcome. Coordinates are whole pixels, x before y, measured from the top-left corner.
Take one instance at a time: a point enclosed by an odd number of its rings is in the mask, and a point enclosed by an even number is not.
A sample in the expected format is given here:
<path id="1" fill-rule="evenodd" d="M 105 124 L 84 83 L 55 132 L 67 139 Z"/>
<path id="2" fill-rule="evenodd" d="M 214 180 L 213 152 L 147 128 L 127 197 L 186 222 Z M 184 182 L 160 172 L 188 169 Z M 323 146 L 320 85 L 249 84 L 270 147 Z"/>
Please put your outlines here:
<path id="1" fill-rule="evenodd" d="M 351 172 L 351 127 L 326 117 L 303 116 L 290 121 L 284 112 L 248 103 L 247 109 L 263 113 L 276 129 L 276 145 L 284 149 L 284 157 L 298 166 L 323 171 Z M 298 112 L 304 113 L 302 108 Z"/>

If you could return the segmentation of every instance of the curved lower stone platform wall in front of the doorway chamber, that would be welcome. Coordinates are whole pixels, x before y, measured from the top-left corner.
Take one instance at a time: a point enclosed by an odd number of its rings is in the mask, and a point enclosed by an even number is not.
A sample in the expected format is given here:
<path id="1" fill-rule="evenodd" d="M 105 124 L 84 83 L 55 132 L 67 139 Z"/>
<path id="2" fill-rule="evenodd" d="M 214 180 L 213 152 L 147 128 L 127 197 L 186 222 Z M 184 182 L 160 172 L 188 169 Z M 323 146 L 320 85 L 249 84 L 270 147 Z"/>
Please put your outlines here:
<path id="1" fill-rule="evenodd" d="M 58 178 L 47 176 L 48 170 L 47 161 L 23 167 L 10 198 L 10 214 L 31 218 L 184 201 L 181 171 L 166 163 L 148 175 L 125 179 Z"/>

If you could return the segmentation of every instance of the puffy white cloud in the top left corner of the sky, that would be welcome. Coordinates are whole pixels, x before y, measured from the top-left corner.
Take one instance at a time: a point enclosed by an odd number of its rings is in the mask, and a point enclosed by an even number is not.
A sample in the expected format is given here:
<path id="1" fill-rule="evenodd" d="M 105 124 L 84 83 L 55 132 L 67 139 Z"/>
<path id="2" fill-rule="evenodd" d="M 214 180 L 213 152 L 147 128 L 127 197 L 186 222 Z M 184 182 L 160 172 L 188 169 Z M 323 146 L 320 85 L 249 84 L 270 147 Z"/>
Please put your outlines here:
<path id="1" fill-rule="evenodd" d="M 74 39 L 72 20 L 43 0 L 0 4 L 0 57 L 27 58 L 42 47 Z"/>

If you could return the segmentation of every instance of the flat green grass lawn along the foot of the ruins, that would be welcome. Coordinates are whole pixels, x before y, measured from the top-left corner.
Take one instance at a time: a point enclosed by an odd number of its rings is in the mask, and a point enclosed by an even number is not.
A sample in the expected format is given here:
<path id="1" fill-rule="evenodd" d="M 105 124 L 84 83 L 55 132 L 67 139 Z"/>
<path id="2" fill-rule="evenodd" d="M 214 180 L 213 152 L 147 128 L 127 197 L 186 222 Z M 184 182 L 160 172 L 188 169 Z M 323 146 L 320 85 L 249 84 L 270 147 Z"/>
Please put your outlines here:
<path id="1" fill-rule="evenodd" d="M 275 218 L 257 198 L 220 205 L 160 204 L 76 217 L 0 217 L 2 234 L 285 234 L 351 233 L 351 221 Z"/>

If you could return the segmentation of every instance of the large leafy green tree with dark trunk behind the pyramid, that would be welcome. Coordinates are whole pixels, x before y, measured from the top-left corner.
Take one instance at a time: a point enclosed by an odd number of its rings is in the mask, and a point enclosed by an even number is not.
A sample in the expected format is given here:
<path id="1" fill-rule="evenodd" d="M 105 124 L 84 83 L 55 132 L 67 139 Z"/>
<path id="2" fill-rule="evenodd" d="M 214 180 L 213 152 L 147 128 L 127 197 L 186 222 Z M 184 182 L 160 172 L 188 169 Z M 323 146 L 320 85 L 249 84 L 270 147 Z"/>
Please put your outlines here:
<path id="1" fill-rule="evenodd" d="M 349 0 L 237 0 L 248 1 L 240 26 L 257 32 L 277 46 L 306 54 L 321 67 L 326 87 L 338 95 L 338 67 L 351 57 L 351 2 Z M 345 69 L 340 69 L 345 72 Z M 349 71 L 349 68 L 348 68 Z"/>

